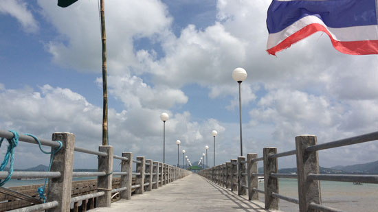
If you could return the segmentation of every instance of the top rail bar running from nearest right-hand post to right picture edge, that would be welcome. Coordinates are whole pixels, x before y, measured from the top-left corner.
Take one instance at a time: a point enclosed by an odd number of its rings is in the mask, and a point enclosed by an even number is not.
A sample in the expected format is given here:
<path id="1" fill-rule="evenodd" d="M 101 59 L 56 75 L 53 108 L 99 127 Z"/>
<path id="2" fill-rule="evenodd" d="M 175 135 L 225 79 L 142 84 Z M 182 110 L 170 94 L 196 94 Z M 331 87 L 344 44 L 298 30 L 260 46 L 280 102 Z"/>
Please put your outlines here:
<path id="1" fill-rule="evenodd" d="M 375 141 L 375 140 L 378 140 L 378 132 L 371 132 L 368 134 L 362 134 L 362 135 L 358 135 L 356 137 L 351 137 L 348 139 L 341 139 L 338 141 L 331 141 L 328 143 L 311 145 L 306 148 L 306 152 L 314 152 L 314 151 L 319 151 L 319 150 L 338 148 L 343 145 L 352 145 L 356 143 L 364 143 L 364 142 Z"/>

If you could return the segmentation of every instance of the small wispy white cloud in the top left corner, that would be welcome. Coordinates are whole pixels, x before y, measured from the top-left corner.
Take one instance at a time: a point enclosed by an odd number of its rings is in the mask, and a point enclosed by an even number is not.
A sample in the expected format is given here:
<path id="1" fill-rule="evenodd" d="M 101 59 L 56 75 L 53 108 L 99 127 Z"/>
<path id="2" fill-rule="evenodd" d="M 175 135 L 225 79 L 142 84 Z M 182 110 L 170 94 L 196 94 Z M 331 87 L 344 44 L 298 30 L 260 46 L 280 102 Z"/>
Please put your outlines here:
<path id="1" fill-rule="evenodd" d="M 0 14 L 9 14 L 21 23 L 25 32 L 37 32 L 38 22 L 30 10 L 27 9 L 27 3 L 22 0 L 3 0 L 0 4 Z"/>

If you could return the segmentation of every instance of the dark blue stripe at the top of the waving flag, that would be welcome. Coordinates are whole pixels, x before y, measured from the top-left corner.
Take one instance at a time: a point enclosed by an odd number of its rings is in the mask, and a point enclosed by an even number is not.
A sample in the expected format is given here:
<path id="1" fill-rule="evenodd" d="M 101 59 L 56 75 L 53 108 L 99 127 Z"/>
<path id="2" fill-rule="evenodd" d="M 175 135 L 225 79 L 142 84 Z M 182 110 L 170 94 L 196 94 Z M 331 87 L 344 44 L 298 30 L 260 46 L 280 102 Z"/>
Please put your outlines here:
<path id="1" fill-rule="evenodd" d="M 328 27 L 377 25 L 376 0 L 272 1 L 267 14 L 269 33 L 284 30 L 304 16 L 318 16 Z"/>

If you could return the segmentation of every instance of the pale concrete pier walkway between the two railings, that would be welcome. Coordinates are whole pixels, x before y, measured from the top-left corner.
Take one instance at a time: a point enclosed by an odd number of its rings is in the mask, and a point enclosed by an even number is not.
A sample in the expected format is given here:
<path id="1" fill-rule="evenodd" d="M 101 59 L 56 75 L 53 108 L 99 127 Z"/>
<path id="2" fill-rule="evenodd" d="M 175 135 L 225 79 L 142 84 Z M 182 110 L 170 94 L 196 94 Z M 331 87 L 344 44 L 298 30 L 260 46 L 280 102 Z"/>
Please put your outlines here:
<path id="1" fill-rule="evenodd" d="M 247 196 L 225 189 L 191 174 L 144 193 L 133 200 L 120 200 L 111 208 L 91 211 L 266 211 L 263 202 L 249 201 Z"/>

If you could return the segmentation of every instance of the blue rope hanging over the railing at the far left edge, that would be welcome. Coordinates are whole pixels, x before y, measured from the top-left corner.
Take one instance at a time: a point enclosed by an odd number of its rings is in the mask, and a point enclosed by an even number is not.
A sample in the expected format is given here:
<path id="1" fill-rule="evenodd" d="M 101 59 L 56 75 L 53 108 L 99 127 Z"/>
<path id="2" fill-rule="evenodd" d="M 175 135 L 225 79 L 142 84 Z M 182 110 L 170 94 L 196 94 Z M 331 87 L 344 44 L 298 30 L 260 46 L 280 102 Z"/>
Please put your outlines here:
<path id="1" fill-rule="evenodd" d="M 14 160 L 14 148 L 16 148 L 17 144 L 19 144 L 19 133 L 17 133 L 14 130 L 9 130 L 9 132 L 13 133 L 13 137 L 12 137 L 12 139 L 7 139 L 8 143 L 9 143 L 7 153 L 5 154 L 3 163 L 1 163 L 1 166 L 0 166 L 0 171 L 3 171 L 5 166 L 8 165 L 8 161 L 10 160 L 9 172 L 8 172 L 8 176 L 3 180 L 3 182 L 1 182 L 1 180 L 0 180 L 0 187 L 2 187 L 5 184 L 5 182 L 8 182 L 8 180 L 10 180 L 10 178 L 12 177 L 13 162 L 14 162 L 13 161 Z M 0 147 L 1 147 L 1 144 L 3 143 L 3 140 L 4 140 L 4 138 L 0 139 Z M 9 156 L 10 156 L 10 158 L 9 158 Z"/>

